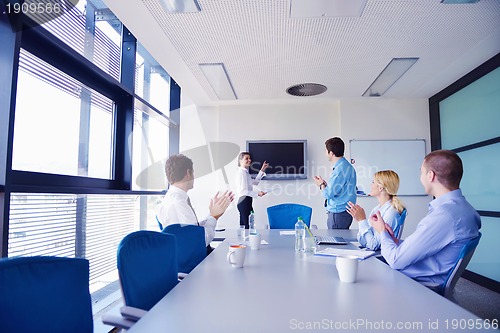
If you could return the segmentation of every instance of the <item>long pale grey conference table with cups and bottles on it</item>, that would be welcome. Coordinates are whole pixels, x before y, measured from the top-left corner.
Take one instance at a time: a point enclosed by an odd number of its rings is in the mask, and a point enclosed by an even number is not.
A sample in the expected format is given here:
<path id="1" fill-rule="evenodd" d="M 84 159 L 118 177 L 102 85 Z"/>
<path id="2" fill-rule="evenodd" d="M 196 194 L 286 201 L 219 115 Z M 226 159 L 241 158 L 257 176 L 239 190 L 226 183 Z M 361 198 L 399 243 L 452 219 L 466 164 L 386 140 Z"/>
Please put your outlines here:
<path id="1" fill-rule="evenodd" d="M 269 244 L 247 247 L 243 268 L 226 258 L 236 230 L 218 233 L 225 240 L 128 332 L 493 331 L 375 257 L 359 262 L 355 283 L 344 283 L 335 257 L 296 254 L 293 235 L 259 232 Z M 356 230 L 313 233 L 356 238 Z"/>

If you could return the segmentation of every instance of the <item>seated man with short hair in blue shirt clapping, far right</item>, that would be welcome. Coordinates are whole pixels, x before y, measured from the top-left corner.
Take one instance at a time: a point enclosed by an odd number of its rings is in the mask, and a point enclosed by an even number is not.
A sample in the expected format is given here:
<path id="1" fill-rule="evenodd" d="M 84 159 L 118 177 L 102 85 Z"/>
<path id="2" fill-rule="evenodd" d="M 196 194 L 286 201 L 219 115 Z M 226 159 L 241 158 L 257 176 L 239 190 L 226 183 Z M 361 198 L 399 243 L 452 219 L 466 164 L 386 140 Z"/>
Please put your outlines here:
<path id="1" fill-rule="evenodd" d="M 429 287 L 444 283 L 464 244 L 479 235 L 479 214 L 459 188 L 462 174 L 462 161 L 452 151 L 437 150 L 425 157 L 420 181 L 435 199 L 415 232 L 399 244 L 390 236 L 390 227 L 380 213 L 370 217 L 380 233 L 381 252 L 387 263 Z"/>

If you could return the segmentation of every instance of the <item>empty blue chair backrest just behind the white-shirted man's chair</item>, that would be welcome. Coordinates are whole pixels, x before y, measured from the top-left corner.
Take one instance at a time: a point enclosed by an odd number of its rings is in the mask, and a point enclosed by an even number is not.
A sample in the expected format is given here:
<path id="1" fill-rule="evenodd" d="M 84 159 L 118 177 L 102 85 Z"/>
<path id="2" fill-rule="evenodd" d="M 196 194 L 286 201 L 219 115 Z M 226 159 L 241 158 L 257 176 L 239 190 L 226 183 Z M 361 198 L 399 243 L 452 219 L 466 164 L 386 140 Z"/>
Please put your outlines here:
<path id="1" fill-rule="evenodd" d="M 175 236 L 128 234 L 118 245 L 117 267 L 125 305 L 149 311 L 178 282 Z"/>

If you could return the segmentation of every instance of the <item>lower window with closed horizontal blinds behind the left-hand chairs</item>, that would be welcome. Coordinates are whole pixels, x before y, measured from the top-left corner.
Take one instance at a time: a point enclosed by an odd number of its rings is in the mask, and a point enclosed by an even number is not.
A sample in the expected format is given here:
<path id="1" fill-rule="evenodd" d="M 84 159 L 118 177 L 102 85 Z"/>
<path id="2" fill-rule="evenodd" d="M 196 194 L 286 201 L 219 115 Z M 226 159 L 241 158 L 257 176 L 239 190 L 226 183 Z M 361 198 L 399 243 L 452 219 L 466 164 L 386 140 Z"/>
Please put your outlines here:
<path id="1" fill-rule="evenodd" d="M 10 201 L 9 256 L 64 256 L 90 261 L 90 289 L 116 281 L 116 250 L 140 228 L 140 215 L 158 230 L 160 195 L 78 195 L 13 193 Z M 141 202 L 146 207 L 141 207 Z"/>

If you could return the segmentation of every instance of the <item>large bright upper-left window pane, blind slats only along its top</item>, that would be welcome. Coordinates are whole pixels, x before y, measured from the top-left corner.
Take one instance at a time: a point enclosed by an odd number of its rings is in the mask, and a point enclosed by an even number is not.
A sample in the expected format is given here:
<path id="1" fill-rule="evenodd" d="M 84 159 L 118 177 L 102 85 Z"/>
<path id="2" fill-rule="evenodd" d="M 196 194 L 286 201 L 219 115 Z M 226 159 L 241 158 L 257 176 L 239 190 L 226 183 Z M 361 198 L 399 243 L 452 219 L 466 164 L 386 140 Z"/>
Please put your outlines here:
<path id="1" fill-rule="evenodd" d="M 22 50 L 14 170 L 112 179 L 114 103 Z"/>

